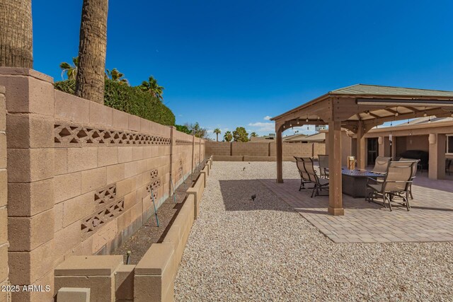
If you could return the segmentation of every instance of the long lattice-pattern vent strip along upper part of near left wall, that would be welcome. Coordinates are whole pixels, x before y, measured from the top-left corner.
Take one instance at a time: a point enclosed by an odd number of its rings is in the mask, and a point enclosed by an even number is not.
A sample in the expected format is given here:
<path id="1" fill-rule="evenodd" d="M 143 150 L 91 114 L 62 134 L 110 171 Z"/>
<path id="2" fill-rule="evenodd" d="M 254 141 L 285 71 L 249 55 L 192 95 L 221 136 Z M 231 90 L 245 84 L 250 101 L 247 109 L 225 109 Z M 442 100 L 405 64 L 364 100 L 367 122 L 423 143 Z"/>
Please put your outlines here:
<path id="1" fill-rule="evenodd" d="M 170 137 L 159 137 L 137 132 L 98 129 L 77 124 L 55 124 L 55 145 L 115 144 L 115 145 L 170 145 Z"/>

